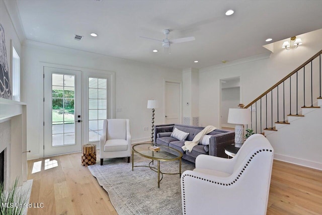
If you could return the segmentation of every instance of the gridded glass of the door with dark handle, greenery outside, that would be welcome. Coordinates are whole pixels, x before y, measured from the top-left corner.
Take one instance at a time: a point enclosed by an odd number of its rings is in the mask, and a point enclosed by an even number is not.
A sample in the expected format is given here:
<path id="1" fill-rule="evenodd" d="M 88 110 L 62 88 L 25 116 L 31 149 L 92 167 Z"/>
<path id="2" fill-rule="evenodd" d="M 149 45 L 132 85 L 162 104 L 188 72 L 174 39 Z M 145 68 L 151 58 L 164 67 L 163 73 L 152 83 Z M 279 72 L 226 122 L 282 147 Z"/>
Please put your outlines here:
<path id="1" fill-rule="evenodd" d="M 75 144 L 75 77 L 52 74 L 52 146 Z"/>

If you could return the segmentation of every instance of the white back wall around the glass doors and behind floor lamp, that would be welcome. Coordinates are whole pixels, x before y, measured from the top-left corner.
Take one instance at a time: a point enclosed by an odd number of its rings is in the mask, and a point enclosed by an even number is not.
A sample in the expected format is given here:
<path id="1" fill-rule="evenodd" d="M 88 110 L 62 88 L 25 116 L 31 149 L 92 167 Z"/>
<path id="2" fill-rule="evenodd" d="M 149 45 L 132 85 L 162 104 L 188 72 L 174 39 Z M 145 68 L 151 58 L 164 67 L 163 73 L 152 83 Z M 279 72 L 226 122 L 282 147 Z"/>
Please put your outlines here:
<path id="1" fill-rule="evenodd" d="M 58 46 L 27 41 L 23 46 L 23 94 L 27 109 L 27 149 L 29 159 L 42 157 L 42 69 L 40 62 L 91 68 L 115 72 L 115 118 L 129 118 L 132 142 L 148 140 L 150 109 L 147 100 L 159 101 L 155 123 L 163 123 L 164 80 L 182 81 L 182 71 L 167 67 L 125 60 L 116 57 L 77 51 Z"/>

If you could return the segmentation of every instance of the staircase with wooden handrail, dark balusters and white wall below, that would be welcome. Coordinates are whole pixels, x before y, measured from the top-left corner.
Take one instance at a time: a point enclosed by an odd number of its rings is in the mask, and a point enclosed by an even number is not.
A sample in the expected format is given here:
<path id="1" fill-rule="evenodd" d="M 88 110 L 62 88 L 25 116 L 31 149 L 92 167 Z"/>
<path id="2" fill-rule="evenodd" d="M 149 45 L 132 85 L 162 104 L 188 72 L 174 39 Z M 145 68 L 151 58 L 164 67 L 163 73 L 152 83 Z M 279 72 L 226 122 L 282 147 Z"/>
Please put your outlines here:
<path id="1" fill-rule="evenodd" d="M 244 108 L 254 133 L 274 148 L 274 159 L 322 170 L 322 50 Z"/>

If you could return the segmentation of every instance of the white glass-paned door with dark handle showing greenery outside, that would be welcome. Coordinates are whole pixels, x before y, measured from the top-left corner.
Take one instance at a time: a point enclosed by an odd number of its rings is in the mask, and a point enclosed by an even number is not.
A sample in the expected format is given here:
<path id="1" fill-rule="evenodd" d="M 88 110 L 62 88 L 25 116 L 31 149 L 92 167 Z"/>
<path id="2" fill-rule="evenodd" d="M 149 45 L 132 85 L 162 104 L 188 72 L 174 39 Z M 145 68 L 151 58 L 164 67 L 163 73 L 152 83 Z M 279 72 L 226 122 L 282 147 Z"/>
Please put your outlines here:
<path id="1" fill-rule="evenodd" d="M 81 151 L 82 72 L 44 66 L 44 156 Z"/>

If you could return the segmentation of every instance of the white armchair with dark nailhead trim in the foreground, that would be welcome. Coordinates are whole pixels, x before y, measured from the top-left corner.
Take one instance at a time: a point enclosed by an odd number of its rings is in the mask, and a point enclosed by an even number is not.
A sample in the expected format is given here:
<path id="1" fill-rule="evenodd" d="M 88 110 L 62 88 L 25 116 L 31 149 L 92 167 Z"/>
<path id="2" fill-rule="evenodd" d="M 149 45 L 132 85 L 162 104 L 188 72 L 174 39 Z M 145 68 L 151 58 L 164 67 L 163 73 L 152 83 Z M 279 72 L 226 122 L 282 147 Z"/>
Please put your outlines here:
<path id="1" fill-rule="evenodd" d="M 232 159 L 199 155 L 181 176 L 183 214 L 266 214 L 274 150 L 250 136 Z"/>

